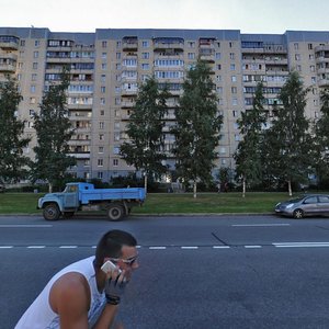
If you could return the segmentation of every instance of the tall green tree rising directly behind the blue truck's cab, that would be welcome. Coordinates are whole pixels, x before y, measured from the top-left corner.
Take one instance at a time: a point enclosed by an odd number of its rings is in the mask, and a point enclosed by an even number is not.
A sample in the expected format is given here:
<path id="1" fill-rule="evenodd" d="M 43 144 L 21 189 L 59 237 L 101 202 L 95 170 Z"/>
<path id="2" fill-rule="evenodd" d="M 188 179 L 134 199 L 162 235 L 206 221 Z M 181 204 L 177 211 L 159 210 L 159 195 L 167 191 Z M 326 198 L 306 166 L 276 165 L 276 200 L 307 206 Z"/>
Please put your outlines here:
<path id="1" fill-rule="evenodd" d="M 76 163 L 76 159 L 68 156 L 68 141 L 73 134 L 67 109 L 69 79 L 69 72 L 64 69 L 60 83 L 49 87 L 42 99 L 39 114 L 34 115 L 37 146 L 34 147 L 32 179 L 47 181 L 49 192 L 66 178 L 68 167 Z"/>

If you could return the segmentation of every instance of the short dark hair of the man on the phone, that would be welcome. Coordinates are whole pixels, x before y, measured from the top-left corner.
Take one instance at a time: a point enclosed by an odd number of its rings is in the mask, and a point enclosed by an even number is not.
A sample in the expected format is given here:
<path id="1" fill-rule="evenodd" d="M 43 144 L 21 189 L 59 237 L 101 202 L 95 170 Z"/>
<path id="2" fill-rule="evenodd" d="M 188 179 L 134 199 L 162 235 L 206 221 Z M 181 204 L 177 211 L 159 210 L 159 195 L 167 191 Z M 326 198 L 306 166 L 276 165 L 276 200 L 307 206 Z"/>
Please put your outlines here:
<path id="1" fill-rule="evenodd" d="M 136 247 L 137 240 L 129 232 L 120 229 L 105 232 L 98 243 L 94 265 L 101 268 L 105 257 L 120 258 L 123 246 Z"/>

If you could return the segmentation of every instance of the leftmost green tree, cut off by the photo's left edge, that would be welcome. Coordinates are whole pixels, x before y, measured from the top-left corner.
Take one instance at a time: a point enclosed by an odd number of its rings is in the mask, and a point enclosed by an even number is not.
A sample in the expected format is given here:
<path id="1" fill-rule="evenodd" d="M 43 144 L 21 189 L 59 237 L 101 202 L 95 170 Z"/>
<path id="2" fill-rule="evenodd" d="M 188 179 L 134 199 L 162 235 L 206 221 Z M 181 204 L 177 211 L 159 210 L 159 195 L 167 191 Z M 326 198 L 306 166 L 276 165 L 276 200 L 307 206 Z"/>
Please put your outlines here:
<path id="1" fill-rule="evenodd" d="M 23 138 L 24 122 L 16 116 L 22 100 L 16 81 L 9 77 L 0 83 L 0 182 L 11 183 L 26 177 L 29 158 L 23 148 L 30 138 Z"/>

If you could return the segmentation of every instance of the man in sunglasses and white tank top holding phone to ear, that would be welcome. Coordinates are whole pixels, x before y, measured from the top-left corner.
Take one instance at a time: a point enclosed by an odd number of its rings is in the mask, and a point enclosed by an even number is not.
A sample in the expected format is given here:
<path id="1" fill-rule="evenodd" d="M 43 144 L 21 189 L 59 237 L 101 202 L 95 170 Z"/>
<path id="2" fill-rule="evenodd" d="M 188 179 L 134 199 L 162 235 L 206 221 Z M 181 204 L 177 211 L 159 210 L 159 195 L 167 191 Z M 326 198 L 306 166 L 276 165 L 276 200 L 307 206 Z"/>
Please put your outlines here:
<path id="1" fill-rule="evenodd" d="M 125 287 L 138 268 L 136 246 L 131 234 L 107 231 L 99 241 L 95 256 L 53 276 L 15 329 L 111 328 Z"/>

